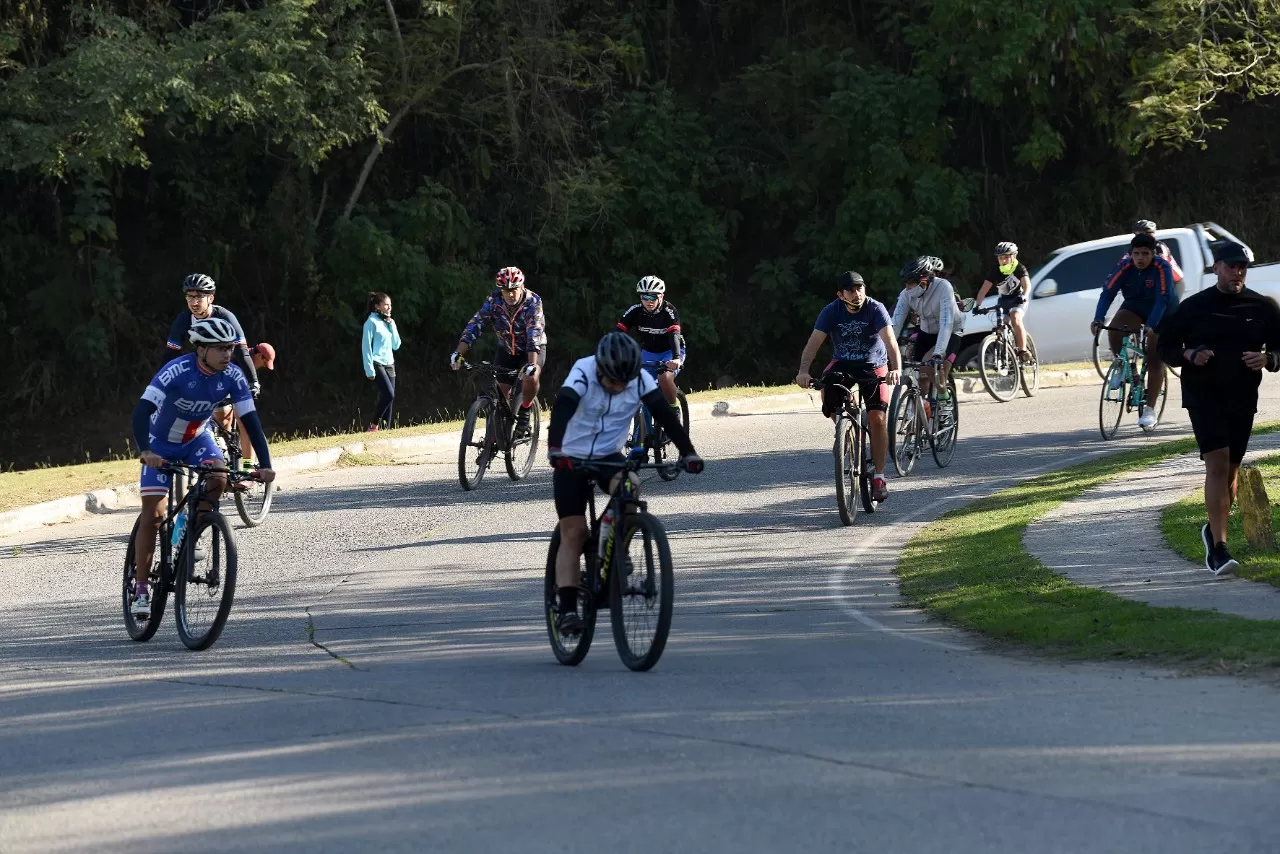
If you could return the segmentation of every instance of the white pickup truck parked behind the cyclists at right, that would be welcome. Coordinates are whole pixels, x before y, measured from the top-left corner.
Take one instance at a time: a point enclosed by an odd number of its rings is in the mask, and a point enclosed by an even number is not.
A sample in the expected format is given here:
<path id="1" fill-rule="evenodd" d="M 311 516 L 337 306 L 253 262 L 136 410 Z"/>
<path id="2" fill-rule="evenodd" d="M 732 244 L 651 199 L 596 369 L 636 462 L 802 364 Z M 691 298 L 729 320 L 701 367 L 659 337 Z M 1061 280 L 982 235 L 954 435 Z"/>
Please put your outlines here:
<path id="1" fill-rule="evenodd" d="M 1116 234 L 1073 243 L 1050 252 L 1048 257 L 1030 268 L 1032 300 L 1027 306 L 1027 329 L 1036 341 L 1041 362 L 1088 361 L 1093 357 L 1089 321 L 1093 320 L 1107 274 L 1129 251 L 1132 239 L 1133 234 Z M 1162 228 L 1156 232 L 1156 239 L 1169 245 L 1183 268 L 1184 278 L 1178 288 L 1183 298 L 1217 283 L 1212 251 L 1216 242 L 1235 241 L 1247 246 L 1217 223 Z M 1280 300 L 1280 264 L 1252 265 L 1245 284 Z M 1111 312 L 1119 311 L 1120 302 L 1117 297 Z M 988 297 L 983 305 L 996 305 L 996 297 Z M 977 366 L 978 346 L 991 332 L 991 324 L 992 315 L 965 318 L 964 344 L 956 360 L 959 365 Z"/>

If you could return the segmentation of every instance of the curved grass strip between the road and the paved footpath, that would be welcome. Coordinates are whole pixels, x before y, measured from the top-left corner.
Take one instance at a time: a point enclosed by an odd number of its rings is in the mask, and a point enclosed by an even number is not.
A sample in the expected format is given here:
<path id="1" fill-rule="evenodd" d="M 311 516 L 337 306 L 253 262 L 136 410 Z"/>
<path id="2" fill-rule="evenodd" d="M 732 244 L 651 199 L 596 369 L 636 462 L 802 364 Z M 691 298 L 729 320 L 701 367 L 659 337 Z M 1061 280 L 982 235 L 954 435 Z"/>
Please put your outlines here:
<path id="1" fill-rule="evenodd" d="M 1260 431 L 1276 429 L 1280 424 Z M 1181 439 L 1111 455 L 946 513 L 908 544 L 897 566 L 902 594 L 956 625 L 1048 654 L 1234 668 L 1280 665 L 1280 621 L 1121 599 L 1073 584 L 1023 547 L 1027 525 L 1064 501 L 1194 447 Z"/>

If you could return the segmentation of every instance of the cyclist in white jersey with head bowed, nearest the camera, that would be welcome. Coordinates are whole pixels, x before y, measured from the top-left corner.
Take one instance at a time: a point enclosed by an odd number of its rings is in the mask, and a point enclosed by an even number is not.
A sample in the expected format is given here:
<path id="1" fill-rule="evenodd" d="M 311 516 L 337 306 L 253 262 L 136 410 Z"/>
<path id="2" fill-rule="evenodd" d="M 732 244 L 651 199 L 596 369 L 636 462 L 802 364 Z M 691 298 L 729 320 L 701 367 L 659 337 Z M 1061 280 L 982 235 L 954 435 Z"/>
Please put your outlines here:
<path id="1" fill-rule="evenodd" d="M 623 332 L 607 333 L 596 346 L 595 356 L 573 362 L 552 406 L 547 451 L 548 461 L 556 470 L 552 488 L 561 530 L 556 585 L 559 588 L 557 629 L 562 635 L 582 632 L 582 618 L 577 613 L 577 556 L 586 540 L 586 499 L 591 475 L 575 467 L 575 458 L 622 462 L 631 421 L 641 403 L 649 407 L 654 420 L 680 448 L 685 471 L 700 472 L 703 458 L 694 451 L 676 414 L 662 405 L 662 392 L 653 376 L 640 370 L 640 344 Z M 611 493 L 620 480 L 621 474 L 609 484 Z M 631 487 L 639 490 L 635 478 Z"/>

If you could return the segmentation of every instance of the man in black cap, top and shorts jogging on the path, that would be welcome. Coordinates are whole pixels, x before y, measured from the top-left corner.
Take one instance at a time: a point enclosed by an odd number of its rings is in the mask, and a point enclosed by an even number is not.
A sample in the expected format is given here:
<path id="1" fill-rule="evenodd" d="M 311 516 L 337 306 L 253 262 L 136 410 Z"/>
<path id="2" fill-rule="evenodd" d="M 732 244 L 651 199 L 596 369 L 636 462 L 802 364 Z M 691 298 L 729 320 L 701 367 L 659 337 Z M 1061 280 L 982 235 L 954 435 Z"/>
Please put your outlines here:
<path id="1" fill-rule="evenodd" d="M 1231 575 L 1239 563 L 1226 549 L 1226 520 L 1249 448 L 1262 369 L 1280 370 L 1280 306 L 1244 287 L 1253 260 L 1244 246 L 1225 242 L 1215 256 L 1217 286 L 1165 316 L 1160 355 L 1183 367 L 1183 408 L 1204 461 L 1204 568 Z"/>

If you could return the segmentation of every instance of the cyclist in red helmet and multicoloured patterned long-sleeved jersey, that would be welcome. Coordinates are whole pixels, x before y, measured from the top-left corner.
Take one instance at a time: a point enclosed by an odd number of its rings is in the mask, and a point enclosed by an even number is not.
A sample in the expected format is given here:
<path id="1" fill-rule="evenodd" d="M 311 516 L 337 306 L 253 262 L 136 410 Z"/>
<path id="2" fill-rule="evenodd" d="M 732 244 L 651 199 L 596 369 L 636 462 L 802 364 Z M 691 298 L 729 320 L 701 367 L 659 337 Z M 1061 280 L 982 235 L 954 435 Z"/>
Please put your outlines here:
<path id="1" fill-rule="evenodd" d="M 504 266 L 495 277 L 497 288 L 480 306 L 458 339 L 458 348 L 449 356 L 449 367 L 458 370 L 480 338 L 485 324 L 498 335 L 498 355 L 494 365 L 500 370 L 520 371 L 520 411 L 516 414 L 516 433 L 529 433 L 529 407 L 538 399 L 543 366 L 547 364 L 547 318 L 543 298 L 525 288 L 525 274 L 518 266 Z M 503 394 L 511 385 L 502 385 Z"/>

